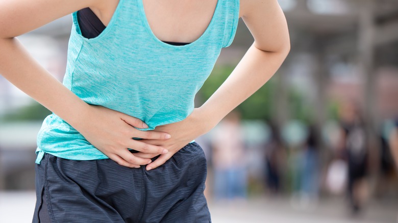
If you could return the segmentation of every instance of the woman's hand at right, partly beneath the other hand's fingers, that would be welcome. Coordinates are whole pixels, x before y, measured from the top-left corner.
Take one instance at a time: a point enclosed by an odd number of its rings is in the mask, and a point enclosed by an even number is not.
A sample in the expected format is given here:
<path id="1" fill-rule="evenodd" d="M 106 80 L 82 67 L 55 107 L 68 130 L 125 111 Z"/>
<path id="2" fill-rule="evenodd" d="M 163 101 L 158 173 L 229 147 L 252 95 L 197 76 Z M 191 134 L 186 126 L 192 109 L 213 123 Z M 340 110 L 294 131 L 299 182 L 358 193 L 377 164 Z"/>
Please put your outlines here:
<path id="1" fill-rule="evenodd" d="M 168 150 L 168 153 L 161 154 L 155 161 L 146 165 L 146 170 L 152 170 L 165 163 L 180 149 L 192 142 L 196 137 L 210 131 L 214 126 L 207 123 L 206 117 L 203 117 L 200 108 L 194 108 L 192 113 L 180 122 L 170 123 L 166 125 L 157 126 L 154 130 L 166 132 L 171 135 L 167 140 L 140 140 L 143 143 L 161 146 Z M 135 156 L 142 158 L 153 158 L 159 154 L 138 152 Z"/>

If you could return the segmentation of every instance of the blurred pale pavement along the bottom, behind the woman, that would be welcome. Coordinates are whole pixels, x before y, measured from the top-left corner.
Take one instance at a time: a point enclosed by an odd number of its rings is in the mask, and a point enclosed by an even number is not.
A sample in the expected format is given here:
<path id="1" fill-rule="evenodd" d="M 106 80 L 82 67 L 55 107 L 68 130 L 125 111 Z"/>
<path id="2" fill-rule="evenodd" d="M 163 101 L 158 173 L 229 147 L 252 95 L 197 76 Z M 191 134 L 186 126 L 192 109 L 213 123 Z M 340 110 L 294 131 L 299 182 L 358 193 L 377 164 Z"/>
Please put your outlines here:
<path id="1" fill-rule="evenodd" d="M 35 204 L 34 191 L 0 192 L 1 222 L 25 223 L 32 221 Z M 310 209 L 293 208 L 286 198 L 255 198 L 246 202 L 214 203 L 209 201 L 212 221 L 215 223 L 235 222 L 295 222 L 295 223 L 384 223 L 396 222 L 398 210 L 394 204 L 369 204 L 357 217 L 350 216 L 346 206 L 340 200 L 328 200 L 317 203 Z"/>

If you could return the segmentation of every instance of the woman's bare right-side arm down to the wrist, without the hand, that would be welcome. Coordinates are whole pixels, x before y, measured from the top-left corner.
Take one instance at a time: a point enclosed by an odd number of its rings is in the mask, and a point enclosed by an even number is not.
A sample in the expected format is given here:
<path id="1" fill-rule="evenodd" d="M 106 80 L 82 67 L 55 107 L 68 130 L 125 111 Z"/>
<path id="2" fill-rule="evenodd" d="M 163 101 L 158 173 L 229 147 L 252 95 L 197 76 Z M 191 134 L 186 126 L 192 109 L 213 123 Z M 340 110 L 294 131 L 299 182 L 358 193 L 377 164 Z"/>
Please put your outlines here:
<path id="1" fill-rule="evenodd" d="M 261 88 L 279 69 L 290 50 L 285 16 L 277 0 L 242 0 L 241 15 L 254 37 L 231 75 L 200 107 L 209 126 Z"/>

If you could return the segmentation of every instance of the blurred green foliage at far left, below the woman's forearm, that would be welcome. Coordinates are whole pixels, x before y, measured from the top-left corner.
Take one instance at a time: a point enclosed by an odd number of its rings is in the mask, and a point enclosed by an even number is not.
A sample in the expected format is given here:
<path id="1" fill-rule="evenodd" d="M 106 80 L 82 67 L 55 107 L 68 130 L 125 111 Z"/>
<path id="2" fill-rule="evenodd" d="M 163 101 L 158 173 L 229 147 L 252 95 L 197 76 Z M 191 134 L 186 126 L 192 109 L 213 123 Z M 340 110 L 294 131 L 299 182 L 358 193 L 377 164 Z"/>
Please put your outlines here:
<path id="1" fill-rule="evenodd" d="M 42 121 L 46 116 L 52 114 L 50 110 L 43 105 L 34 101 L 28 106 L 24 106 L 12 113 L 8 113 L 2 117 L 3 122 L 15 121 Z"/>

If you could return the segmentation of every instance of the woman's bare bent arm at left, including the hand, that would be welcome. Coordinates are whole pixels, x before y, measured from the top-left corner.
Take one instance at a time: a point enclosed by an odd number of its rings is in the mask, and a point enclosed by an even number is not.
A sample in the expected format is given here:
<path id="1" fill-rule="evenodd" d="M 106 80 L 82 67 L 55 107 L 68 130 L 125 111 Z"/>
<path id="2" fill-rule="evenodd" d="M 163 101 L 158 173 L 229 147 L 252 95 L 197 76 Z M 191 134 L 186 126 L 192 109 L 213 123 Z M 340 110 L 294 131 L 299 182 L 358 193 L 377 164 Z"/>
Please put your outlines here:
<path id="1" fill-rule="evenodd" d="M 106 0 L 0 1 L 0 74 L 13 85 L 76 128 L 96 148 L 125 166 L 147 164 L 127 148 L 161 154 L 164 148 L 132 137 L 161 139 L 166 133 L 140 131 L 144 123 L 126 114 L 85 103 L 41 67 L 16 36 L 86 7 L 101 8 Z M 167 152 L 167 151 L 164 151 Z"/>

